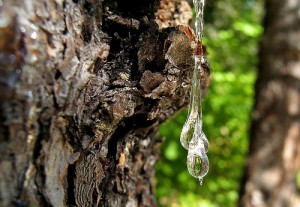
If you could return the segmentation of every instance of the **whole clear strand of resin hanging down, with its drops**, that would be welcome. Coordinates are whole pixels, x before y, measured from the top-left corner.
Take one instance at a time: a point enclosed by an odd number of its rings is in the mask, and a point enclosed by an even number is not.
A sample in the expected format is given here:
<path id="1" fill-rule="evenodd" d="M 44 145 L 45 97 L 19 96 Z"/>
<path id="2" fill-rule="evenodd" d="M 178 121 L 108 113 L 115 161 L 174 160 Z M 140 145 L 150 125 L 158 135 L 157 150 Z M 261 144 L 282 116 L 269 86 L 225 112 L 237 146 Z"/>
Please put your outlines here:
<path id="1" fill-rule="evenodd" d="M 203 11 L 204 0 L 193 0 L 196 10 L 196 48 L 194 52 L 195 68 L 193 71 L 192 86 L 190 93 L 190 104 L 188 118 L 182 128 L 180 142 L 188 150 L 187 168 L 189 173 L 200 180 L 202 184 L 203 177 L 208 173 L 209 161 L 206 155 L 208 151 L 208 140 L 202 131 L 202 107 L 201 107 L 201 60 L 202 37 L 203 37 Z M 200 51 L 200 53 L 199 53 Z"/>

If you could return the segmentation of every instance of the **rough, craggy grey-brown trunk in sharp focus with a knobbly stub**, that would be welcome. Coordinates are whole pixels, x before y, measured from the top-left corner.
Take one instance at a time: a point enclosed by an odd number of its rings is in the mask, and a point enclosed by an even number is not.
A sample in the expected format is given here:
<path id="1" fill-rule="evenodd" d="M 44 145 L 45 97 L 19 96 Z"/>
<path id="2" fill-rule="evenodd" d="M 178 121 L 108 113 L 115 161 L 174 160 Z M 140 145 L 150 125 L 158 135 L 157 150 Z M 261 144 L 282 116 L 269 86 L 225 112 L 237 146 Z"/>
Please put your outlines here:
<path id="1" fill-rule="evenodd" d="M 158 28 L 158 0 L 0 3 L 0 206 L 155 206 L 155 132 L 187 103 L 187 33 Z"/>

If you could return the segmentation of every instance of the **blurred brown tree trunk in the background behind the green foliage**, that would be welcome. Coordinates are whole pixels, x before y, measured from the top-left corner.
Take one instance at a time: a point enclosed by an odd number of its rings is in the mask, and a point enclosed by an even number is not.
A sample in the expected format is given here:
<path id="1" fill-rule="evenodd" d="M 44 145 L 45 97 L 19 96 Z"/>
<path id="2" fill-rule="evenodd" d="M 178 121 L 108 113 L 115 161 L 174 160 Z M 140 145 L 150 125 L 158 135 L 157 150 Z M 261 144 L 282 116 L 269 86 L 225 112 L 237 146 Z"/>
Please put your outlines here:
<path id="1" fill-rule="evenodd" d="M 240 206 L 299 206 L 300 2 L 267 0 Z"/>

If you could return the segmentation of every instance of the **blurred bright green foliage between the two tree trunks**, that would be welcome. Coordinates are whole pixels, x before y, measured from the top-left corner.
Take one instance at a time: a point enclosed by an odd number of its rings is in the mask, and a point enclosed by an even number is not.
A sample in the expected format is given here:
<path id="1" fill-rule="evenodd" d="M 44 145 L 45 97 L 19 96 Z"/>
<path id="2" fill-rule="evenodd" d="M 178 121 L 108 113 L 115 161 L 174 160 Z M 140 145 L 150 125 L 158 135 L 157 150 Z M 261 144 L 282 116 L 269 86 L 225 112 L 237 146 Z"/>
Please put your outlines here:
<path id="1" fill-rule="evenodd" d="M 200 186 L 186 169 L 187 151 L 179 142 L 187 116 L 183 110 L 160 127 L 165 141 L 156 166 L 159 206 L 236 206 L 248 149 L 262 13 L 261 0 L 206 1 L 204 44 L 212 79 L 202 111 L 210 171 Z"/>

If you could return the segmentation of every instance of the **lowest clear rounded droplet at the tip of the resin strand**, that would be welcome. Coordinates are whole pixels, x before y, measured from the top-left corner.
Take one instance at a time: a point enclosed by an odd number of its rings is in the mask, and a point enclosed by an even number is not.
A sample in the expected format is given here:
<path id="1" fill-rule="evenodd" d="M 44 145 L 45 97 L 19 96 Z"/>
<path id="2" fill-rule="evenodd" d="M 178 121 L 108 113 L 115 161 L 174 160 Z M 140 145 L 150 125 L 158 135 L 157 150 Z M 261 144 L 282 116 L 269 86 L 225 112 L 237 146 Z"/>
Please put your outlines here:
<path id="1" fill-rule="evenodd" d="M 187 156 L 187 168 L 195 178 L 203 178 L 209 170 L 208 158 L 202 150 L 191 150 Z"/>

